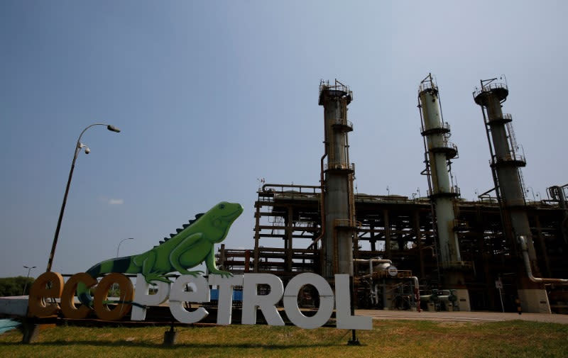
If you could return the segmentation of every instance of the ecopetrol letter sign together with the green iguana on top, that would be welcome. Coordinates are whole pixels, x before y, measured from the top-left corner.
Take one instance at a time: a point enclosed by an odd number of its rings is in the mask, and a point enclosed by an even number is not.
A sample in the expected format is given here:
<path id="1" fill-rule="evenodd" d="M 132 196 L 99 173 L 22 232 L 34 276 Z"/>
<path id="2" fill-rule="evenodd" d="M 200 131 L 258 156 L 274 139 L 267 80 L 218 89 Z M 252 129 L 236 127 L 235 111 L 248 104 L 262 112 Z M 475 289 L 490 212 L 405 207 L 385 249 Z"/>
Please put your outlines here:
<path id="1" fill-rule="evenodd" d="M 132 320 L 144 320 L 146 307 L 159 305 L 168 300 L 173 317 L 182 323 L 197 323 L 208 312 L 200 307 L 187 311 L 184 302 L 207 303 L 211 298 L 209 286 L 219 286 L 219 308 L 217 324 L 231 324 L 232 291 L 234 286 L 243 286 L 242 323 L 256 323 L 256 311 L 260 308 L 269 325 L 284 325 L 276 303 L 283 300 L 285 313 L 292 323 L 302 328 L 317 328 L 329 320 L 336 308 L 337 328 L 372 328 L 370 317 L 351 315 L 349 276 L 335 275 L 334 295 L 331 286 L 317 274 L 300 274 L 290 280 L 286 289 L 282 281 L 273 274 L 244 274 L 233 276 L 230 272 L 217 269 L 214 245 L 222 242 L 231 224 L 243 212 L 239 203 L 222 201 L 206 213 L 182 225 L 170 237 L 164 237 L 160 245 L 127 257 L 116 257 L 95 264 L 87 272 L 71 276 L 64 284 L 61 274 L 45 272 L 35 280 L 30 289 L 28 315 L 45 317 L 61 310 L 66 318 L 85 318 L 91 310 L 102 320 L 119 320 L 132 310 Z M 189 271 L 204 263 L 209 271 L 205 279 L 201 271 Z M 175 281 L 170 281 L 171 272 L 179 272 Z M 136 291 L 124 274 L 136 274 Z M 97 277 L 104 276 L 97 284 Z M 149 294 L 150 284 L 158 285 L 158 292 Z M 109 301 L 111 286 L 120 287 L 120 301 Z M 310 284 L 320 293 L 320 308 L 312 317 L 302 315 L 297 306 L 297 293 L 302 286 Z M 90 287 L 97 285 L 94 298 Z M 257 286 L 268 285 L 267 295 L 258 295 Z M 187 289 L 190 287 L 190 289 Z M 75 306 L 75 293 L 82 303 Z M 56 303 L 47 303 L 49 298 L 60 298 Z M 117 303 L 114 308 L 109 303 Z"/>

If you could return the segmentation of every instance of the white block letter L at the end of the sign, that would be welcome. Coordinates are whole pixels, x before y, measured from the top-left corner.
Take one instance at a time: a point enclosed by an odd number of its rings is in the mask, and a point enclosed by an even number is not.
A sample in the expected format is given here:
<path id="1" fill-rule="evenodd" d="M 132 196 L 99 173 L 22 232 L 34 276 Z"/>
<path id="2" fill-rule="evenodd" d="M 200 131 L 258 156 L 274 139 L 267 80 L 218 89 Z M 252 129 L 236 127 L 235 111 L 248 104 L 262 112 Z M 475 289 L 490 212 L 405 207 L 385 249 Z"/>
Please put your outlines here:
<path id="1" fill-rule="evenodd" d="M 351 289 L 349 275 L 335 275 L 335 316 L 337 328 L 346 330 L 372 330 L 373 318 L 363 315 L 351 315 Z"/>

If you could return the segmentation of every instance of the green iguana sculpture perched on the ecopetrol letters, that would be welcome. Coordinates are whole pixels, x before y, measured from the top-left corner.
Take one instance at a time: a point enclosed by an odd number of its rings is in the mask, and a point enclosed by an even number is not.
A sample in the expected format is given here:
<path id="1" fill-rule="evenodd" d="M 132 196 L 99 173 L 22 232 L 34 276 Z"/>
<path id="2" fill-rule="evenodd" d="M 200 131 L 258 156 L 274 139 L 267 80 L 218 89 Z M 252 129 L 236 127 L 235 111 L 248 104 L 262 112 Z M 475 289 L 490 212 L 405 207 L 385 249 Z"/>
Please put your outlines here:
<path id="1" fill-rule="evenodd" d="M 168 273 L 179 272 L 197 276 L 202 271 L 187 271 L 205 262 L 210 274 L 232 276 L 230 272 L 220 271 L 215 265 L 214 244 L 222 242 L 231 224 L 243 212 L 239 203 L 223 201 L 207 213 L 197 214 L 195 220 L 179 228 L 177 233 L 164 237 L 160 245 L 133 256 L 117 257 L 99 262 L 87 270 L 93 278 L 102 274 L 119 272 L 123 274 L 143 274 L 151 281 L 170 282 Z M 91 306 L 92 298 L 84 284 L 77 285 L 77 297 L 84 305 Z"/>

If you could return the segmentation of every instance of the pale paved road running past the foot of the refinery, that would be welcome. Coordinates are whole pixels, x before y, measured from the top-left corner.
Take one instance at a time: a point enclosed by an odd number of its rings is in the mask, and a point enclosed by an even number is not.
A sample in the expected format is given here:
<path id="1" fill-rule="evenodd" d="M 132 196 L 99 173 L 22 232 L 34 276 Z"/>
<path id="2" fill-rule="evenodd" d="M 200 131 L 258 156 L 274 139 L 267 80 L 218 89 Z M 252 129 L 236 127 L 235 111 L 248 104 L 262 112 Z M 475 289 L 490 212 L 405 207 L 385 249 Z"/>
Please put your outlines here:
<path id="1" fill-rule="evenodd" d="M 376 320 L 439 320 L 448 322 L 499 322 L 503 320 L 532 320 L 537 322 L 563 323 L 568 325 L 568 315 L 543 313 L 499 312 L 425 312 L 355 310 L 356 315 L 370 315 Z"/>

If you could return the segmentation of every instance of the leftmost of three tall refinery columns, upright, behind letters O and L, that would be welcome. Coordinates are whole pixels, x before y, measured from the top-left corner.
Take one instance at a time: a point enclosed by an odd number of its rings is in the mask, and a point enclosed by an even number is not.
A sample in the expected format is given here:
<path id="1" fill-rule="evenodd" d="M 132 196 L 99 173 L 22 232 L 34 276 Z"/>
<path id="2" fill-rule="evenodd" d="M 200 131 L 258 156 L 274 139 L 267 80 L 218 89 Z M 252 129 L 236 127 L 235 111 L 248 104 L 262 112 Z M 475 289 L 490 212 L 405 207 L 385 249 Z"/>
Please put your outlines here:
<path id="1" fill-rule="evenodd" d="M 335 81 L 320 83 L 320 106 L 324 106 L 324 145 L 327 164 L 324 164 L 325 235 L 322 242 L 322 275 L 331 279 L 334 274 L 353 275 L 354 165 L 349 163 L 347 133 L 353 130 L 347 121 L 347 105 L 353 94 L 349 87 Z"/>

